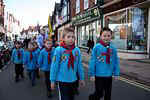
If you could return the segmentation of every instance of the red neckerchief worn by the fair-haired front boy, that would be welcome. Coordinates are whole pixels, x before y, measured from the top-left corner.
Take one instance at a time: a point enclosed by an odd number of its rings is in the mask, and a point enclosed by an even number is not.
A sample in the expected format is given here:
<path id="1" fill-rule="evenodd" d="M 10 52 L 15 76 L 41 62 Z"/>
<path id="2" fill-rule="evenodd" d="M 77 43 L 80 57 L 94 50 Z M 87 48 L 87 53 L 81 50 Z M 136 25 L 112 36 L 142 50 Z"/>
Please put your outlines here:
<path id="1" fill-rule="evenodd" d="M 72 50 L 75 48 L 75 44 L 71 45 L 68 48 L 68 46 L 64 42 L 61 42 L 60 46 L 65 48 L 65 49 L 67 49 L 67 50 L 65 50 L 65 53 L 70 54 L 69 61 L 68 61 L 68 68 L 70 68 L 70 65 L 71 65 L 72 69 L 74 69 L 74 60 L 75 60 L 75 58 L 74 58 L 74 56 L 72 54 Z"/>

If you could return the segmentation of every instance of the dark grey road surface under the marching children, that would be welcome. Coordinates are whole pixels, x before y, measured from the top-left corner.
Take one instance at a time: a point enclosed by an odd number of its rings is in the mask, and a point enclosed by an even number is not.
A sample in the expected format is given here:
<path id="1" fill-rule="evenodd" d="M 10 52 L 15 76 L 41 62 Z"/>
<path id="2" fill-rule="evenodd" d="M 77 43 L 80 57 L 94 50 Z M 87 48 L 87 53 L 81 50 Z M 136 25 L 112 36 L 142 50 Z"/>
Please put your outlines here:
<path id="1" fill-rule="evenodd" d="M 80 89 L 80 95 L 76 96 L 76 100 L 88 100 L 88 95 L 94 91 L 93 82 L 90 82 L 87 78 L 87 69 L 85 72 L 86 86 Z M 19 83 L 15 83 L 13 65 L 8 65 L 7 69 L 0 72 L 0 79 L 0 100 L 49 100 L 46 96 L 42 72 L 35 87 L 31 86 L 27 76 Z M 56 91 L 50 100 L 58 100 Z M 150 91 L 124 81 L 115 80 L 113 81 L 112 100 L 150 100 Z"/>

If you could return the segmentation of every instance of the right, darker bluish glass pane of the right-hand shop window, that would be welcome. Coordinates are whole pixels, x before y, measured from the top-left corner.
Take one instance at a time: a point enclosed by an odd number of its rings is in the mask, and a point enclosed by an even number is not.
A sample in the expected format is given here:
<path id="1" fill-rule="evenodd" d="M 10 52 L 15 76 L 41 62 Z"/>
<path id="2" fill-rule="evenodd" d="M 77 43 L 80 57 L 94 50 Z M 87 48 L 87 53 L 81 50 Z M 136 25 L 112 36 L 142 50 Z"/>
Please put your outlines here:
<path id="1" fill-rule="evenodd" d="M 128 50 L 146 51 L 147 25 L 148 9 L 132 8 L 128 10 Z"/>

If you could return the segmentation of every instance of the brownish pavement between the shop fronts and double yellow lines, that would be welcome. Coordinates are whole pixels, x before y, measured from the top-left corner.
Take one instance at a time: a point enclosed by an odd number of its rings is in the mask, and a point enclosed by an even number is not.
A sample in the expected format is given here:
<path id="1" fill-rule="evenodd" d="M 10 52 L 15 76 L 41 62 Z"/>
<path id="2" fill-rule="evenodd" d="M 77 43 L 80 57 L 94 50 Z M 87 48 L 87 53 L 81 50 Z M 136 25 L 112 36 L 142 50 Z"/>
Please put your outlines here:
<path id="1" fill-rule="evenodd" d="M 81 49 L 84 66 L 88 67 L 91 54 Z M 150 59 L 123 59 L 120 58 L 120 75 L 124 78 L 150 86 Z"/>

